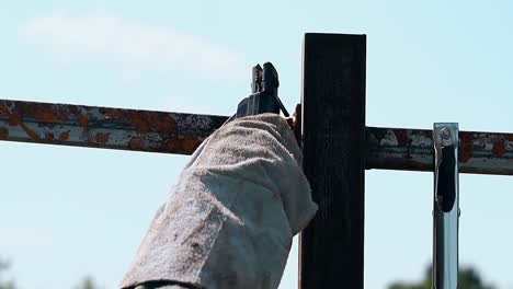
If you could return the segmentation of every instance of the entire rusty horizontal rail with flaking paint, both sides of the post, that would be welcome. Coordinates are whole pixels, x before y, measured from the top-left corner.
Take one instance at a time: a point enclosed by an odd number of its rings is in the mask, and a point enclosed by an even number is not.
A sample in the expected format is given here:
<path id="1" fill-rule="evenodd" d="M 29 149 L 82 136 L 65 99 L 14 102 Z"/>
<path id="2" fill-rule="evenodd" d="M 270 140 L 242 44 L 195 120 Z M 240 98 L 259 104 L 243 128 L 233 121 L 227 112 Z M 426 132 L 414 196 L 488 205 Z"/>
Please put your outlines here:
<path id="1" fill-rule="evenodd" d="M 192 154 L 227 116 L 0 100 L 0 140 Z M 366 169 L 433 171 L 426 129 L 367 127 Z M 513 175 L 513 134 L 459 132 L 459 172 Z"/>

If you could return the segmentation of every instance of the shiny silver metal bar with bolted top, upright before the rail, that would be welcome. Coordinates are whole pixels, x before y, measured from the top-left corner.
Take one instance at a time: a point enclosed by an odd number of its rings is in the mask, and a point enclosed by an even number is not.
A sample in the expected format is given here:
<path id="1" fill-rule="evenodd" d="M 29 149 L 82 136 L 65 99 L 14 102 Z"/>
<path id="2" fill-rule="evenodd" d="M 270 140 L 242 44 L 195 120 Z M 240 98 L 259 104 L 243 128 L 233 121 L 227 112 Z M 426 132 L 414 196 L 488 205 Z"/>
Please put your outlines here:
<path id="1" fill-rule="evenodd" d="M 433 288 L 458 284 L 458 124 L 436 123 L 434 141 Z"/>

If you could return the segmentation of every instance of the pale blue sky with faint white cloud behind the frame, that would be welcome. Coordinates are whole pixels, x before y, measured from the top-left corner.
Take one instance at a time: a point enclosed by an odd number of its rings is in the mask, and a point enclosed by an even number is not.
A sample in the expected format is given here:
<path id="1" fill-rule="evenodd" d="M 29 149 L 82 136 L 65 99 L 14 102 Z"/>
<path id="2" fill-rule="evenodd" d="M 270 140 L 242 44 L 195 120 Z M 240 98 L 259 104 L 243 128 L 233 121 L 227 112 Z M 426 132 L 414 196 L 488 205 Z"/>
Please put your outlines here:
<path id="1" fill-rule="evenodd" d="M 4 1 L 0 99 L 231 115 L 306 32 L 367 34 L 367 125 L 513 131 L 511 1 Z M 187 157 L 0 142 L 0 255 L 22 289 L 115 288 Z M 421 278 L 432 174 L 366 174 L 365 287 Z M 460 261 L 513 288 L 513 178 L 460 176 Z M 297 247 L 282 281 L 295 288 Z"/>

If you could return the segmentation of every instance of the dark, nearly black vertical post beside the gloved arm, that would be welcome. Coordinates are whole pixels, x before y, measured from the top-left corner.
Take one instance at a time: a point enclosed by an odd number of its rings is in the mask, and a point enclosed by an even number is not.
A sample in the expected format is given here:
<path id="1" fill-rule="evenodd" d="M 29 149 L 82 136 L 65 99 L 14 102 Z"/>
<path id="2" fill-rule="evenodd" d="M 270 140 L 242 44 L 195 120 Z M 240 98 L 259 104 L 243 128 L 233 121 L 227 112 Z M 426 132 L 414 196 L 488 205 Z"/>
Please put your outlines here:
<path id="1" fill-rule="evenodd" d="M 300 236 L 300 289 L 364 286 L 365 60 L 365 35 L 305 35 L 304 170 L 319 211 Z"/>

